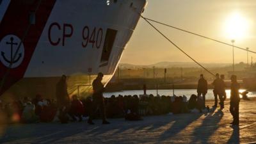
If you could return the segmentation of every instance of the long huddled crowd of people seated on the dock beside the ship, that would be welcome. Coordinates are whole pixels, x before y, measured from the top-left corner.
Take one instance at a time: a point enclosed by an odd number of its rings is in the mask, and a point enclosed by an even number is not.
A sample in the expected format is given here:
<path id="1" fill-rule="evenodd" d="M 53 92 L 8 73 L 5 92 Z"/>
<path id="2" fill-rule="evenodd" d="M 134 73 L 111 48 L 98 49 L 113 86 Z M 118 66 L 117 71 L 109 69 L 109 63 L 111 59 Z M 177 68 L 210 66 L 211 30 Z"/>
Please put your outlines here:
<path id="1" fill-rule="evenodd" d="M 104 103 L 108 118 L 125 118 L 125 120 L 142 120 L 141 116 L 147 115 L 189 113 L 193 109 L 202 113 L 202 109 L 205 108 L 202 97 L 196 95 L 191 95 L 189 100 L 186 96 L 147 95 L 139 98 L 138 95 L 118 95 L 117 97 L 112 95 L 104 98 Z M 0 101 L 0 115 L 8 122 L 81 122 L 83 118 L 89 116 L 92 109 L 95 109 L 94 118 L 100 117 L 100 110 L 93 106 L 90 97 L 79 99 L 73 95 L 70 104 L 59 109 L 56 100 L 44 99 L 41 95 L 36 95 L 35 99 L 24 97 L 22 100 L 7 104 Z"/>

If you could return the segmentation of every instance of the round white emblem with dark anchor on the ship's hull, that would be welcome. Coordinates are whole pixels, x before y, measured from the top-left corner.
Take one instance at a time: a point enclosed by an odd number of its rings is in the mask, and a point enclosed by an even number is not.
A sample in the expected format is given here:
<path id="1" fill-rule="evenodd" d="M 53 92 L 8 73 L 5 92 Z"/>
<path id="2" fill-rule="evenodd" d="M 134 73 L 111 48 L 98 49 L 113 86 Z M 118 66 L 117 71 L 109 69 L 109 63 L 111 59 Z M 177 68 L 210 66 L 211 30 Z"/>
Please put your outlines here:
<path id="1" fill-rule="evenodd" d="M 7 35 L 0 42 L 0 61 L 4 66 L 15 68 L 24 58 L 24 45 L 18 36 Z"/>

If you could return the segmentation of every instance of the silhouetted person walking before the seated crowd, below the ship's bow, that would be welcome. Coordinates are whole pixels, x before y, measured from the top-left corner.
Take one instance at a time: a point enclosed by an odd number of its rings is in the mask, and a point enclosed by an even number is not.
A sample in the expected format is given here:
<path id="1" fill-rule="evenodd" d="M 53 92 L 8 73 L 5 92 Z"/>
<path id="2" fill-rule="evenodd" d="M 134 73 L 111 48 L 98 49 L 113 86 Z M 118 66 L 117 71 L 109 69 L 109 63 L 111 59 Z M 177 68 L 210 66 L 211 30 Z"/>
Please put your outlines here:
<path id="1" fill-rule="evenodd" d="M 93 99 L 94 106 L 96 106 L 95 108 L 100 108 L 100 113 L 102 116 L 102 124 L 110 124 L 106 120 L 105 104 L 104 104 L 104 97 L 103 97 L 103 92 L 105 88 L 104 88 L 104 85 L 101 83 L 103 76 L 104 75 L 102 74 L 102 72 L 99 72 L 98 76 L 96 77 L 96 79 L 94 79 L 92 83 L 92 87 L 93 87 L 92 99 Z M 88 124 L 91 124 L 91 125 L 94 124 L 92 122 L 92 115 L 93 115 L 93 111 L 91 109 L 90 118 L 88 119 Z"/>

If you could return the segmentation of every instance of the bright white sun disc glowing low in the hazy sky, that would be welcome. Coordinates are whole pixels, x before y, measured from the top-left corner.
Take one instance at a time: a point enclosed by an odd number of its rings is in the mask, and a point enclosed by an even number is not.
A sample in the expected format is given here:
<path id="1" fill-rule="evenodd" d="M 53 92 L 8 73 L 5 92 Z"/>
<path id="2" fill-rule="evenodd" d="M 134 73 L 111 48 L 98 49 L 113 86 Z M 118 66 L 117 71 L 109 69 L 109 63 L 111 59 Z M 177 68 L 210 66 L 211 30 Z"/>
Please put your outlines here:
<path id="1" fill-rule="evenodd" d="M 232 13 L 225 22 L 225 36 L 230 39 L 243 39 L 248 36 L 249 22 L 241 13 Z"/>

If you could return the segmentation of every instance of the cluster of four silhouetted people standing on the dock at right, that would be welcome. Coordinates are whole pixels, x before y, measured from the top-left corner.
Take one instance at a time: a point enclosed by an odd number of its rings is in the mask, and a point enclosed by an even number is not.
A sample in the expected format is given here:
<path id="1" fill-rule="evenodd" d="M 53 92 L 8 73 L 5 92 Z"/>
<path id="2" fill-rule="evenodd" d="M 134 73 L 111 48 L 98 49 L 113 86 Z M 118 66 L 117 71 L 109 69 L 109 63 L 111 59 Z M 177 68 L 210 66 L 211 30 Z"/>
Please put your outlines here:
<path id="1" fill-rule="evenodd" d="M 218 106 L 218 98 L 220 99 L 220 108 L 224 108 L 224 101 L 227 99 L 227 94 L 225 92 L 225 76 L 222 74 L 216 74 L 215 79 L 212 82 L 213 86 L 213 94 L 214 94 L 214 106 Z M 239 83 L 237 83 L 237 77 L 236 75 L 232 75 L 230 77 L 231 84 L 230 84 L 230 113 L 233 116 L 233 122 L 230 124 L 232 125 L 239 125 Z M 204 100 L 205 105 L 205 95 L 208 91 L 208 83 L 207 80 L 204 78 L 204 75 L 200 75 L 200 79 L 198 80 L 198 87 L 197 87 L 197 93 L 198 93 L 198 99 L 202 95 L 202 99 Z"/>

